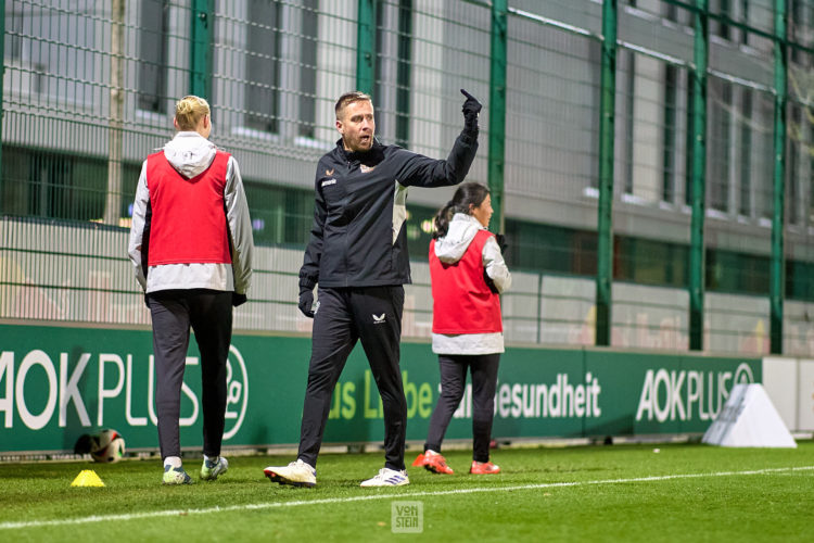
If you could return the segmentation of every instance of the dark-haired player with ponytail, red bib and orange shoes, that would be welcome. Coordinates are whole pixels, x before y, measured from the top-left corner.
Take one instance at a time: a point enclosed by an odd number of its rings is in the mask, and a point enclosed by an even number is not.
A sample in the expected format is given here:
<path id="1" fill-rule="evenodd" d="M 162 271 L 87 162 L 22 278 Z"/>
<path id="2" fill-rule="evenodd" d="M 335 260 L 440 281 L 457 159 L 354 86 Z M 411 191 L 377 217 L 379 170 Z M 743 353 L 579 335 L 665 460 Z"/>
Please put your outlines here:
<path id="1" fill-rule="evenodd" d="M 483 185 L 465 182 L 435 214 L 430 242 L 432 351 L 438 355 L 441 396 L 430 419 L 424 452 L 412 463 L 453 473 L 441 454 L 453 413 L 472 374 L 472 465 L 469 472 L 498 473 L 489 462 L 497 367 L 504 352 L 499 294 L 511 286 L 500 243 L 489 232 L 492 198 Z"/>

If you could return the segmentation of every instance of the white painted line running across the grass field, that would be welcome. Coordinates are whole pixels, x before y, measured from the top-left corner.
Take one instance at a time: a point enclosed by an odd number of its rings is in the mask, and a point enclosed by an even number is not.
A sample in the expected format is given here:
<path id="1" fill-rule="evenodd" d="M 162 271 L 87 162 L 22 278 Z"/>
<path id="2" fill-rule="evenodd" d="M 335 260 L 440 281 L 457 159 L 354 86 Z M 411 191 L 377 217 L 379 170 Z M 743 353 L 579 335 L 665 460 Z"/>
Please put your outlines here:
<path id="1" fill-rule="evenodd" d="M 167 510 L 155 510 L 144 513 L 130 513 L 122 515 L 92 515 L 90 517 L 77 517 L 77 518 L 64 518 L 54 520 L 29 520 L 20 522 L 0 522 L 0 530 L 14 530 L 20 528 L 41 528 L 46 526 L 71 526 L 71 525 L 87 525 L 89 522 L 104 522 L 104 521 L 122 521 L 122 520 L 138 520 L 142 518 L 156 518 L 156 517 L 176 517 L 186 515 L 208 515 L 212 513 L 226 513 L 236 510 L 256 510 L 256 509 L 272 509 L 280 507 L 296 507 L 300 505 L 325 505 L 325 504 L 343 504 L 353 502 L 369 502 L 373 500 L 405 500 L 410 497 L 422 497 L 422 496 L 446 496 L 454 494 L 474 494 L 484 492 L 508 492 L 517 490 L 538 490 L 538 489 L 556 489 L 565 487 L 587 487 L 592 484 L 621 484 L 632 482 L 658 482 L 658 481 L 670 481 L 674 479 L 702 479 L 709 477 L 737 477 L 737 476 L 752 476 L 752 475 L 767 475 L 767 473 L 780 473 L 789 475 L 794 471 L 809 471 L 814 470 L 814 466 L 800 466 L 800 467 L 786 467 L 786 468 L 766 468 L 766 469 L 750 469 L 746 471 L 713 471 L 709 473 L 677 473 L 669 476 L 652 476 L 652 477 L 634 477 L 631 479 L 601 479 L 595 481 L 571 481 L 571 482 L 544 482 L 536 484 L 518 484 L 513 487 L 475 487 L 471 489 L 458 489 L 458 490 L 438 490 L 438 491 L 427 491 L 427 492 L 398 492 L 389 494 L 366 494 L 353 497 L 327 497 L 322 500 L 297 500 L 293 502 L 271 502 L 260 504 L 242 504 L 242 505 L 230 505 L 227 507 L 206 507 L 203 509 L 167 509 Z M 307 490 L 303 492 L 308 492 Z"/>

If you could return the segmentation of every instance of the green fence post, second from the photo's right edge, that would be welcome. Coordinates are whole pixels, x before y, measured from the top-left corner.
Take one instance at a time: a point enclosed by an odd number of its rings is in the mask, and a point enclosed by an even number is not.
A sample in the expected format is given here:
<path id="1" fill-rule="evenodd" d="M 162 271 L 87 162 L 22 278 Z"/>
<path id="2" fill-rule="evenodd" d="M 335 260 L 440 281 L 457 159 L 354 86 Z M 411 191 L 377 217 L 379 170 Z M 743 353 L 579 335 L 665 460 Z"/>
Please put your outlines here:
<path id="1" fill-rule="evenodd" d="M 696 0 L 692 86 L 692 218 L 689 245 L 689 349 L 703 350 L 705 281 L 704 219 L 707 190 L 707 63 L 709 60 L 708 0 Z"/>

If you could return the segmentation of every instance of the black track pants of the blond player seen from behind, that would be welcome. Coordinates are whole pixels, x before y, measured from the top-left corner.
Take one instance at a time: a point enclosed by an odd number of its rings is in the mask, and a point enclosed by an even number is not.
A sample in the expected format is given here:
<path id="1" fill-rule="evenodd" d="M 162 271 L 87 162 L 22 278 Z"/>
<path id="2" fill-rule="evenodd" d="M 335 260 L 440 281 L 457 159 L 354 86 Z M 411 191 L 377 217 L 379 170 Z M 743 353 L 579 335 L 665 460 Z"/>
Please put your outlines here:
<path id="1" fill-rule="evenodd" d="M 201 351 L 203 453 L 218 456 L 226 416 L 226 359 L 232 337 L 232 293 L 163 290 L 148 294 L 153 319 L 155 411 L 161 457 L 180 456 L 178 418 L 190 327 Z"/>

